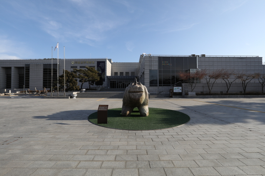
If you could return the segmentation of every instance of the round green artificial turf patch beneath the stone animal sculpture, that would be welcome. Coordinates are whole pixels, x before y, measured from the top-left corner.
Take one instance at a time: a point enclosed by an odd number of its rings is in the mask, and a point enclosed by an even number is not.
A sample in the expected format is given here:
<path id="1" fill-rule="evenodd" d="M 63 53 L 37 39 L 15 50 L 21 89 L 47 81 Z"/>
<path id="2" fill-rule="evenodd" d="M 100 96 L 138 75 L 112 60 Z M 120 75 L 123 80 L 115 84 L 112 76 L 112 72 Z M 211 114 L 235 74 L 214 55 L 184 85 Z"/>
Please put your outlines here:
<path id="1" fill-rule="evenodd" d="M 157 130 L 183 125 L 190 120 L 187 114 L 169 109 L 149 108 L 149 116 L 142 117 L 134 108 L 130 117 L 121 115 L 122 108 L 108 109 L 108 123 L 97 123 L 97 112 L 88 117 L 95 125 L 122 130 Z"/>

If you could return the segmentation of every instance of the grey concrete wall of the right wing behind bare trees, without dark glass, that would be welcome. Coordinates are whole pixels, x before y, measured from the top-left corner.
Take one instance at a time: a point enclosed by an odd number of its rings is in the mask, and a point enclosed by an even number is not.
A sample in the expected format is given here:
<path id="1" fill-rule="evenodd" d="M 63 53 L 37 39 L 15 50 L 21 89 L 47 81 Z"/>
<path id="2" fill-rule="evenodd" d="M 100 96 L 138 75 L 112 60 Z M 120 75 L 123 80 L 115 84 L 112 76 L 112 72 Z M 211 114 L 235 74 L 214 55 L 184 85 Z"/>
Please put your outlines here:
<path id="1" fill-rule="evenodd" d="M 174 57 L 175 55 L 173 55 Z M 179 56 L 179 55 L 176 55 Z M 170 57 L 170 55 L 154 55 L 154 56 L 140 56 L 138 63 L 138 77 L 139 81 L 142 82 L 148 92 L 151 94 L 156 94 L 157 92 L 165 91 L 164 93 L 168 94 L 169 89 L 172 87 L 169 86 L 150 86 L 149 81 L 149 71 L 150 70 L 158 70 L 159 57 Z M 171 56 L 172 57 L 172 56 Z M 189 56 L 183 56 L 188 58 Z M 226 70 L 234 70 L 235 72 L 246 72 L 247 74 L 254 73 L 263 73 L 264 65 L 262 65 L 262 57 L 258 56 L 198 56 L 198 69 L 207 70 L 207 72 L 212 72 L 218 69 L 226 69 Z M 157 78 L 159 76 L 157 75 Z M 231 78 L 230 80 L 233 80 Z M 187 87 L 186 90 L 191 91 L 191 87 L 189 84 L 184 84 L 184 87 Z M 200 83 L 196 85 L 194 91 L 196 92 L 209 92 L 207 90 L 207 83 L 204 79 L 201 80 Z M 162 91 L 157 91 L 162 90 Z M 212 92 L 220 93 L 226 92 L 226 84 L 223 80 L 217 80 L 216 84 L 213 86 Z M 242 84 L 241 81 L 235 81 L 229 92 L 242 92 Z M 258 91 L 261 92 L 261 85 L 258 82 L 258 79 L 253 79 L 247 86 L 246 91 Z"/>

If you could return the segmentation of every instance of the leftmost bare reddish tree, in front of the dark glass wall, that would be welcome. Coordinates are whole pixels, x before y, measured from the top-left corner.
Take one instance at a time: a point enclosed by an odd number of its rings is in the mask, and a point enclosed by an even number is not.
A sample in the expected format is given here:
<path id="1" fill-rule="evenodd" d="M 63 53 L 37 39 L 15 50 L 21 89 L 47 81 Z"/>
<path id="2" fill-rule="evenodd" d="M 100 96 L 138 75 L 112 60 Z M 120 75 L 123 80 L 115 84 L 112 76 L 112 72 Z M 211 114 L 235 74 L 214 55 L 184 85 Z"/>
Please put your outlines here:
<path id="1" fill-rule="evenodd" d="M 203 78 L 205 72 L 200 72 L 199 70 L 196 71 L 195 73 L 190 73 L 190 72 L 180 72 L 178 74 L 179 79 L 182 79 L 184 81 L 188 81 L 188 83 L 191 86 L 191 91 L 193 92 L 197 81 Z"/>

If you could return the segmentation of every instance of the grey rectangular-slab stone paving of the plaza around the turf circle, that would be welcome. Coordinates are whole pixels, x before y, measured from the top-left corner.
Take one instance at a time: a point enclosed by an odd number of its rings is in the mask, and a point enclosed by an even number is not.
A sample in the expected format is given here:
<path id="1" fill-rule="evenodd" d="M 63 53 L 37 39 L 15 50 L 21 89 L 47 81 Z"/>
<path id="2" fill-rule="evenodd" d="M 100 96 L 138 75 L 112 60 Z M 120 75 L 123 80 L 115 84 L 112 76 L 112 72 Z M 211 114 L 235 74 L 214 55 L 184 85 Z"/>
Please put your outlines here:
<path id="1" fill-rule="evenodd" d="M 152 98 L 188 114 L 164 130 L 91 124 L 99 104 L 122 99 L 0 98 L 0 175 L 265 175 L 265 98 Z"/>

